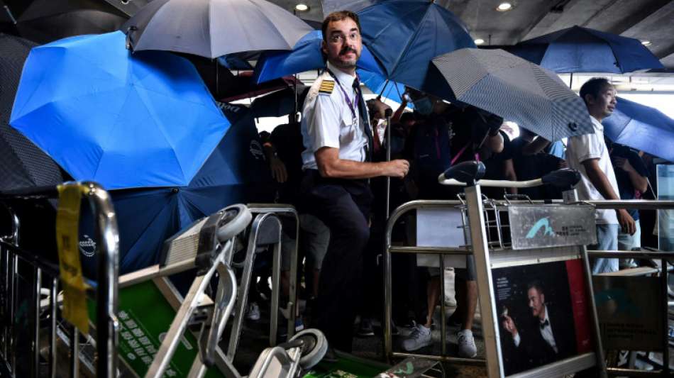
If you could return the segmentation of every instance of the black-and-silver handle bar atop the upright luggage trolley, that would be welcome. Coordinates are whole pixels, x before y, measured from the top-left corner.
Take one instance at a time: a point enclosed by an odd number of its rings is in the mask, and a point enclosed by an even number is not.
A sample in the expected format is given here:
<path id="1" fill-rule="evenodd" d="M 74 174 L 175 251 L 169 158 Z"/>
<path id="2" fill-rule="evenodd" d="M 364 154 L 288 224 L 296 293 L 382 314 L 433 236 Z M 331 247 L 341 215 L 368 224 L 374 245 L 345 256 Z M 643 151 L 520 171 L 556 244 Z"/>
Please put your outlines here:
<path id="1" fill-rule="evenodd" d="M 580 181 L 580 173 L 575 169 L 563 168 L 550 172 L 540 179 L 526 181 L 509 180 L 482 180 L 485 176 L 485 165 L 482 162 L 461 162 L 449 167 L 438 177 L 438 182 L 443 185 L 472 187 L 480 184 L 481 187 L 502 188 L 530 188 L 548 184 L 563 191 L 573 189 Z"/>

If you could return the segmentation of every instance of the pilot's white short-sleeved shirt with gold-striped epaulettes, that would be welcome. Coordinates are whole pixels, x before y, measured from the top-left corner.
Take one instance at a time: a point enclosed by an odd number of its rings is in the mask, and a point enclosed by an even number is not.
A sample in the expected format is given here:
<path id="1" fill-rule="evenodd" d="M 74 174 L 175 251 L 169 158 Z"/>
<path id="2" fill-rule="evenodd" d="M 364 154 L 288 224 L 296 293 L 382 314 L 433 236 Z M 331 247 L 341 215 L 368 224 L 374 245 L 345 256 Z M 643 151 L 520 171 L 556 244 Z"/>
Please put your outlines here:
<path id="1" fill-rule="evenodd" d="M 321 74 L 309 89 L 302 112 L 302 169 L 318 169 L 314 152 L 323 147 L 339 149 L 339 158 L 343 160 L 365 161 L 365 147 L 368 137 L 360 125 L 358 97 L 353 90 L 355 77 L 346 74 L 328 62 L 328 69 L 335 74 L 337 80 L 328 72 Z M 321 90 L 330 87 L 323 82 L 334 82 L 331 91 Z M 339 88 L 339 86 L 344 89 Z M 355 118 L 351 112 L 344 92 L 349 96 Z M 367 119 L 368 114 L 363 118 Z"/>

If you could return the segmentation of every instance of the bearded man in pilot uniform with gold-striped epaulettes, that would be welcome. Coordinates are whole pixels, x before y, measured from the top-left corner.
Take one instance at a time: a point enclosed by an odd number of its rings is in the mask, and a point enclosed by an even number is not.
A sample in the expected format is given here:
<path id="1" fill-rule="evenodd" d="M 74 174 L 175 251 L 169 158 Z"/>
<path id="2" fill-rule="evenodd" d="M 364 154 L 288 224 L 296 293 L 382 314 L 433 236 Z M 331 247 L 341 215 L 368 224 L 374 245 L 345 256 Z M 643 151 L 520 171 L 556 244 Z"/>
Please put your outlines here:
<path id="1" fill-rule="evenodd" d="M 328 62 L 304 102 L 301 191 L 303 210 L 330 228 L 314 324 L 331 347 L 350 352 L 362 253 L 370 237 L 368 179 L 402 178 L 409 163 L 370 162 L 372 128 L 355 73 L 362 49 L 358 16 L 350 11 L 331 13 L 322 32 L 321 50 Z"/>

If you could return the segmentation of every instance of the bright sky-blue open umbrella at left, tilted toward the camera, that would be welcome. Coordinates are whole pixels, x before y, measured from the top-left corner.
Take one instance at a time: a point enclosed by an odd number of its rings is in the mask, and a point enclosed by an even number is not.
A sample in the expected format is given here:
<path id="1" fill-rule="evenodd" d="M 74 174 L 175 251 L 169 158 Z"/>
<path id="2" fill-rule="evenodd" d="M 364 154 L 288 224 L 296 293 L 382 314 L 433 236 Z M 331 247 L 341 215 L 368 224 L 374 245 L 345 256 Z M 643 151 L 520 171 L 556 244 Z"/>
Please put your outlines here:
<path id="1" fill-rule="evenodd" d="M 11 126 L 77 180 L 106 189 L 186 186 L 229 122 L 194 66 L 131 54 L 117 31 L 34 48 Z"/>

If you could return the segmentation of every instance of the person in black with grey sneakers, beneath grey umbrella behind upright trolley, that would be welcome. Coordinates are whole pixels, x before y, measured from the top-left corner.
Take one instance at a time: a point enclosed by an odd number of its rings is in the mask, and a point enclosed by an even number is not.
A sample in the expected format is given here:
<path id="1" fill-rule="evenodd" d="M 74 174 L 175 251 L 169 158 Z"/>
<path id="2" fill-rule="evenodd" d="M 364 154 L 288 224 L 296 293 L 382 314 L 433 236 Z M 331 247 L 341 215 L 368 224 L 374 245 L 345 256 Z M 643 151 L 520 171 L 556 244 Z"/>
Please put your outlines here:
<path id="1" fill-rule="evenodd" d="M 408 89 L 417 121 L 407 139 L 407 156 L 414 163 L 412 174 L 419 199 L 455 199 L 460 188 L 438 183 L 438 175 L 451 165 L 480 159 L 487 152 L 501 152 L 503 138 L 499 134 L 502 118 L 490 113 L 479 113 L 470 107 L 462 109 L 447 104 L 431 94 Z M 457 289 L 457 310 L 453 319 L 460 323 L 457 334 L 458 355 L 475 357 L 477 348 L 473 338 L 473 318 L 477 306 L 477 282 L 475 282 L 475 262 L 473 256 L 466 257 L 466 269 L 455 269 Z M 402 342 L 407 351 L 419 350 L 431 345 L 431 319 L 440 292 L 440 269 L 419 269 L 419 274 L 427 276 L 428 296 L 418 301 L 416 326 L 409 337 Z M 422 279 L 423 281 L 423 279 Z"/>

